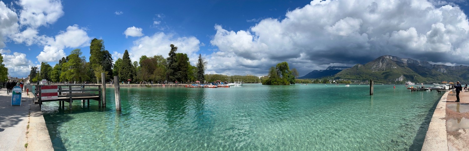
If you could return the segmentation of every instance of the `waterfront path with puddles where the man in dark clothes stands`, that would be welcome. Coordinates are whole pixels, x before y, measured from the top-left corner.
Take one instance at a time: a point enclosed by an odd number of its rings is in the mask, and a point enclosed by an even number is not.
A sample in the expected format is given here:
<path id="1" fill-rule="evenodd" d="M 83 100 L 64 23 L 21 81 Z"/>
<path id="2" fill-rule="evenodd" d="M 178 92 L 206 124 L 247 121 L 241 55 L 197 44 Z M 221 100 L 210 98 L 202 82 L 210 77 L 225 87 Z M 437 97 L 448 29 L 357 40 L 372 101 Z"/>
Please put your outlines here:
<path id="1" fill-rule="evenodd" d="M 469 151 L 469 92 L 446 92 L 441 97 L 425 137 L 422 151 Z"/>

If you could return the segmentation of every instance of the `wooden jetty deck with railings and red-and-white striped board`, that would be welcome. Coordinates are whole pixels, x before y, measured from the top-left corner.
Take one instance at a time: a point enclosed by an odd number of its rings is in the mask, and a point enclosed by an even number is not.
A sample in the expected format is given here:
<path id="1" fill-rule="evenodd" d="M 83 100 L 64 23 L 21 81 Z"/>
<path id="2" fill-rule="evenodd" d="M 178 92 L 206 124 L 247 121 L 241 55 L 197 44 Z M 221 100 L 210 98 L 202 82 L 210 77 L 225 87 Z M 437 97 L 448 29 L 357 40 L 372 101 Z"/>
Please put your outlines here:
<path id="1" fill-rule="evenodd" d="M 68 102 L 68 108 L 71 109 L 73 101 L 81 100 L 84 104 L 86 100 L 89 106 L 90 100 L 95 100 L 98 101 L 98 106 L 101 107 L 101 101 L 103 100 L 101 85 L 57 85 L 57 87 L 57 99 L 43 100 L 41 99 L 41 85 L 37 85 L 34 104 L 42 105 L 42 102 L 59 101 L 59 106 L 64 108 L 65 102 Z"/>

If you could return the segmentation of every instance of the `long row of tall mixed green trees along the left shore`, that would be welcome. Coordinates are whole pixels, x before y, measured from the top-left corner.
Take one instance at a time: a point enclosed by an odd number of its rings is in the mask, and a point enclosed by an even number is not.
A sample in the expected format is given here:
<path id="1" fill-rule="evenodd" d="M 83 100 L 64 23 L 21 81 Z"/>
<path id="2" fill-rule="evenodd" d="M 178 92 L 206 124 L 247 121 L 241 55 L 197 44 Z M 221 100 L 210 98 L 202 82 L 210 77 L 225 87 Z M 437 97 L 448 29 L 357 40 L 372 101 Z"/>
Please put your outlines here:
<path id="1" fill-rule="evenodd" d="M 46 79 L 52 82 L 94 83 L 96 81 L 99 83 L 101 73 L 105 73 L 107 82 L 112 81 L 113 76 L 119 76 L 121 81 L 131 80 L 132 83 L 205 80 L 204 72 L 207 62 L 201 54 L 199 54 L 197 65 L 193 66 L 190 65 L 187 54 L 177 53 L 178 48 L 174 44 L 171 44 L 170 48 L 168 58 L 161 55 L 141 56 L 138 62 L 132 62 L 128 50 L 125 50 L 122 58 L 118 58 L 113 63 L 111 54 L 105 49 L 104 41 L 94 38 L 91 40 L 89 62 L 86 61 L 80 49 L 72 50 L 70 55 L 61 58 L 54 67 L 45 62 L 41 62 L 40 70 L 38 67 L 31 67 L 30 82 L 35 83 Z"/>

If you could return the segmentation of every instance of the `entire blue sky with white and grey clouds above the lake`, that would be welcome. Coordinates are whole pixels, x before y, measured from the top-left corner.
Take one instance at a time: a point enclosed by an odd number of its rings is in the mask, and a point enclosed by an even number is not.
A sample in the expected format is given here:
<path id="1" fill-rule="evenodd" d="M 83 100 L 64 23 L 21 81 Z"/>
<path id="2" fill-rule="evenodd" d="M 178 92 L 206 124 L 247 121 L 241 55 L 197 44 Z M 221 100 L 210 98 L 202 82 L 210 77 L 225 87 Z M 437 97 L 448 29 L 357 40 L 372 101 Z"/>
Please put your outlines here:
<path id="1" fill-rule="evenodd" d="M 92 38 L 132 61 L 167 57 L 169 44 L 208 61 L 206 73 L 267 74 L 287 61 L 300 75 L 393 55 L 468 65 L 463 0 L 2 0 L 0 53 L 10 76 L 55 65 Z M 461 18 L 462 17 L 462 18 Z"/>

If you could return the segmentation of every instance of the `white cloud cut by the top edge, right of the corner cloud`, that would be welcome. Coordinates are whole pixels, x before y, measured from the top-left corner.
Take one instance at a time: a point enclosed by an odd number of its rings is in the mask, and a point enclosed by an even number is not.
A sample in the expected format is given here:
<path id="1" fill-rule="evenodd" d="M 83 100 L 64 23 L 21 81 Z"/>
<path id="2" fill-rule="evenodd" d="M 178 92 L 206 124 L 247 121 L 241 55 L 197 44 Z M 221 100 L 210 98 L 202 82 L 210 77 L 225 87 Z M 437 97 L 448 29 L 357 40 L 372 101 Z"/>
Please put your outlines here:
<path id="1" fill-rule="evenodd" d="M 33 29 L 56 22 L 63 14 L 60 0 L 20 0 L 20 23 Z"/>

